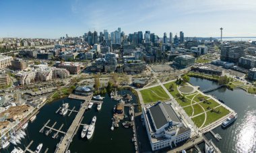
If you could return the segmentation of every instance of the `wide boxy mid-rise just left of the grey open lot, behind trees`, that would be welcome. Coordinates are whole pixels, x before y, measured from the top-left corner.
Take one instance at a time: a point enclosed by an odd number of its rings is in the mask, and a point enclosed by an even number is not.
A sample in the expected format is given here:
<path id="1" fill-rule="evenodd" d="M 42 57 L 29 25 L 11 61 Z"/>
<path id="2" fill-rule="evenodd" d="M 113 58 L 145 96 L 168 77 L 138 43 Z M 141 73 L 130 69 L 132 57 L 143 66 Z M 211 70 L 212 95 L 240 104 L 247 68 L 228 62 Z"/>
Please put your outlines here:
<path id="1" fill-rule="evenodd" d="M 124 72 L 127 73 L 140 73 L 146 70 L 146 62 L 141 60 L 127 60 L 123 66 Z"/>

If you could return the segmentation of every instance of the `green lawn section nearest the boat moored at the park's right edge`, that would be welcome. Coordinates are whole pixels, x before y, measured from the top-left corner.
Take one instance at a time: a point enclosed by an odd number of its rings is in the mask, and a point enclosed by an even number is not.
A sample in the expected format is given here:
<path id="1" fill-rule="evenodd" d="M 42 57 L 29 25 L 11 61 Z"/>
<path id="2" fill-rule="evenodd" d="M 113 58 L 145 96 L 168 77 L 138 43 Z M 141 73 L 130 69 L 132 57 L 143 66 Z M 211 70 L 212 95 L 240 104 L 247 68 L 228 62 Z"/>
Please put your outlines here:
<path id="1" fill-rule="evenodd" d="M 221 113 L 207 111 L 207 113 L 206 113 L 207 118 L 206 118 L 205 124 L 203 126 L 209 125 L 210 123 L 217 121 L 221 117 L 224 117 L 225 115 L 230 113 L 230 111 L 228 109 L 224 108 L 223 106 L 217 107 L 216 110 L 220 110 Z"/>

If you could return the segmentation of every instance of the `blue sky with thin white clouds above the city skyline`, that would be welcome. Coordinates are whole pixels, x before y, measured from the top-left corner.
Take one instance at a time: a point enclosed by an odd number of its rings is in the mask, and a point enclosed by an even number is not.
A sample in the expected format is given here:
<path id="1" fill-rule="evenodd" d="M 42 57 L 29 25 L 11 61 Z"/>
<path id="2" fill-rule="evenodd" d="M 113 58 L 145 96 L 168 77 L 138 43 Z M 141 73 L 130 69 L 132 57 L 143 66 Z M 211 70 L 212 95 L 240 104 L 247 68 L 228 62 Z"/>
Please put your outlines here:
<path id="1" fill-rule="evenodd" d="M 0 0 L 0 37 L 59 38 L 88 30 L 256 36 L 255 0 Z"/>

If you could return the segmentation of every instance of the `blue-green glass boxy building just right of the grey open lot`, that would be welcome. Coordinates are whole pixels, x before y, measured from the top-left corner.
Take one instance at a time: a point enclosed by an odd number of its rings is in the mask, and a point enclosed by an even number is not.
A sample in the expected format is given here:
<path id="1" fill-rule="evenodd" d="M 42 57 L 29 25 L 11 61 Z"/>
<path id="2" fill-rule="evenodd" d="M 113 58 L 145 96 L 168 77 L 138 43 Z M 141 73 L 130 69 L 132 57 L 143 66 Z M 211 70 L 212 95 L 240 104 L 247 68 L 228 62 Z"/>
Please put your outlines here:
<path id="1" fill-rule="evenodd" d="M 178 68 L 187 68 L 195 64 L 195 57 L 191 55 L 180 55 L 174 58 L 174 65 Z"/>

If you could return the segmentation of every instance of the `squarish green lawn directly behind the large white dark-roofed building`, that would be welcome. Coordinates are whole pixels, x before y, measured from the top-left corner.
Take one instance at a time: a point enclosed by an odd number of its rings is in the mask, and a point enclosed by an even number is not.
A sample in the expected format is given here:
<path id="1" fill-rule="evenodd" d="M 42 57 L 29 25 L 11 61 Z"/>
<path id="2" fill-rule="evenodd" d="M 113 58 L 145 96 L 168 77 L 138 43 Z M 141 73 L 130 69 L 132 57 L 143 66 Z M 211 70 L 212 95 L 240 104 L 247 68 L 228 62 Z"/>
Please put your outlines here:
<path id="1" fill-rule="evenodd" d="M 155 93 L 152 93 L 152 91 L 154 91 L 157 95 Z M 144 89 L 140 92 L 144 103 L 153 103 L 156 101 L 164 101 L 170 99 L 170 97 L 168 97 L 168 95 L 165 93 L 164 89 L 162 89 L 161 86 Z"/>

